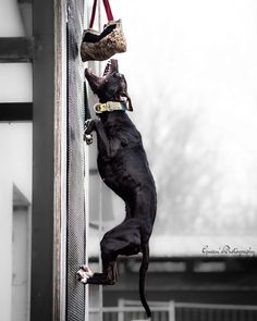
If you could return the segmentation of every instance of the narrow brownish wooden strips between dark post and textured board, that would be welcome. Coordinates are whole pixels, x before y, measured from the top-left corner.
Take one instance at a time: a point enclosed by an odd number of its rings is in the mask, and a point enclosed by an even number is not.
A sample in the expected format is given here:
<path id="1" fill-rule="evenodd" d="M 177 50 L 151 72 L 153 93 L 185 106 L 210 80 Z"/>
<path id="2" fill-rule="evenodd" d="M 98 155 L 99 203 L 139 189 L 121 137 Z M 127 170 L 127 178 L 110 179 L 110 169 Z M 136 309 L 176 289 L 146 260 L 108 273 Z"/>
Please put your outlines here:
<path id="1" fill-rule="evenodd" d="M 54 0 L 53 320 L 65 320 L 66 294 L 66 1 Z"/>

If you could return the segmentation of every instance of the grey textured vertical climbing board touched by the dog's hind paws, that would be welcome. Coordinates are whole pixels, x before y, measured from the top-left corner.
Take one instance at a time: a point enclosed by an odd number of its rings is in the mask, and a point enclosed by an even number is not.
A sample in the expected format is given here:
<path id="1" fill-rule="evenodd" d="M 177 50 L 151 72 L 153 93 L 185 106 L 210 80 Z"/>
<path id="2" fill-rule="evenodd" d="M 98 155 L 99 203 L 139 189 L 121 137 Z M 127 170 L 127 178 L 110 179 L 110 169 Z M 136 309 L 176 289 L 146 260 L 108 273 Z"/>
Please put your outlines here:
<path id="1" fill-rule="evenodd" d="M 84 69 L 79 55 L 84 1 L 68 2 L 68 270 L 66 320 L 85 319 L 85 285 L 76 272 L 85 263 Z"/>

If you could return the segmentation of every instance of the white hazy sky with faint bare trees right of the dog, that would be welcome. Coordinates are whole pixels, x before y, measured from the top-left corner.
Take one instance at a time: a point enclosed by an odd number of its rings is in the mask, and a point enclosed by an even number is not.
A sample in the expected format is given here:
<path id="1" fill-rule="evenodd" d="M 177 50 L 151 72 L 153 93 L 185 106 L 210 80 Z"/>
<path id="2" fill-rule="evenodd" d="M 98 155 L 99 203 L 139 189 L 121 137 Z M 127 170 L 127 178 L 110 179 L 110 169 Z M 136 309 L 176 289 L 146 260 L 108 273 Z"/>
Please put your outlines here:
<path id="1" fill-rule="evenodd" d="M 111 4 L 127 39 L 127 52 L 117 58 L 134 104 L 131 115 L 158 190 L 173 188 L 160 195 L 159 230 L 170 218 L 169 231 L 179 235 L 247 234 L 257 224 L 257 2 Z M 192 131 L 184 144 L 176 136 L 186 118 Z M 182 155 L 183 175 L 175 165 Z"/>

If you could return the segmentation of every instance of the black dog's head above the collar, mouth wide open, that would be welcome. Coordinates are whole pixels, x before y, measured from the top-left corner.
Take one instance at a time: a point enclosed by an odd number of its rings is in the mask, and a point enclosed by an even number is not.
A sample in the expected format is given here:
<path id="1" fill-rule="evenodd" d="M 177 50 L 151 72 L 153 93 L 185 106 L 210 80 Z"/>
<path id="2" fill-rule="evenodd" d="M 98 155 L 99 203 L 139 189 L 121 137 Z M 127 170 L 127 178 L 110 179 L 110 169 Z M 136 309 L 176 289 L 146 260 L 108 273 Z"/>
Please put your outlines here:
<path id="1" fill-rule="evenodd" d="M 126 109 L 133 111 L 131 98 L 127 95 L 127 85 L 124 75 L 119 73 L 118 60 L 111 59 L 107 63 L 103 75 L 98 77 L 91 70 L 85 70 L 85 76 L 101 103 L 120 101 L 126 103 Z"/>

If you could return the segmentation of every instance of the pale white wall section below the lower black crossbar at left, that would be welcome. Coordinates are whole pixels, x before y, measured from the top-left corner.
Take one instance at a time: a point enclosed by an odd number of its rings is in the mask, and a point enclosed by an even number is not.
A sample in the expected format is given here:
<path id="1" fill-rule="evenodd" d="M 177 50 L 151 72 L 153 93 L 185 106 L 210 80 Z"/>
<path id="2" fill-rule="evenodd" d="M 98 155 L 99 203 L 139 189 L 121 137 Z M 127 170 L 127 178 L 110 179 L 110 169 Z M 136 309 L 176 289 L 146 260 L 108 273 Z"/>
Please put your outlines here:
<path id="1" fill-rule="evenodd" d="M 32 124 L 0 123 L 0 309 L 11 320 L 13 184 L 32 200 Z"/>

